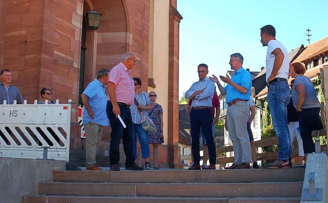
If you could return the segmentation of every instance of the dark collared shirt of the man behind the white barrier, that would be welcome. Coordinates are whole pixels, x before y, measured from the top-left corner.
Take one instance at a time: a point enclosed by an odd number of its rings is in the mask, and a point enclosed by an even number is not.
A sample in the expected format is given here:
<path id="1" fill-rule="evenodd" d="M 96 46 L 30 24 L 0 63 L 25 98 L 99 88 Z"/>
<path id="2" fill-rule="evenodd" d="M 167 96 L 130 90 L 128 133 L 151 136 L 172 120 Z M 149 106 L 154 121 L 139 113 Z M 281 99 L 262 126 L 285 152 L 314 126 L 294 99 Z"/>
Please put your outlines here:
<path id="1" fill-rule="evenodd" d="M 7 104 L 13 104 L 14 100 L 17 100 L 17 104 L 24 102 L 23 97 L 16 86 L 10 84 L 7 89 L 7 87 L 0 82 L 0 104 L 4 104 L 4 100 L 7 101 Z"/>

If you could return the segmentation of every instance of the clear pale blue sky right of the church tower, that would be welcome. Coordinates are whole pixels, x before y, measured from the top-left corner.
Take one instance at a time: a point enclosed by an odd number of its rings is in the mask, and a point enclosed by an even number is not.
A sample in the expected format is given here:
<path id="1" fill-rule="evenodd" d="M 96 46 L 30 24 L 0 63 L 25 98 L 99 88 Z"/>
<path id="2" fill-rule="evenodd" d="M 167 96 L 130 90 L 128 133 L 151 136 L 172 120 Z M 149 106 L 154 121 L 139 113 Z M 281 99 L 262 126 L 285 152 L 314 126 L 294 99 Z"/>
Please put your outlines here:
<path id="1" fill-rule="evenodd" d="M 197 65 L 209 65 L 209 75 L 226 75 L 230 55 L 239 52 L 243 67 L 260 71 L 267 47 L 260 28 L 273 25 L 276 39 L 290 52 L 328 36 L 326 0 L 177 0 L 180 22 L 179 98 L 197 81 Z M 223 84 L 223 83 L 221 83 Z"/>

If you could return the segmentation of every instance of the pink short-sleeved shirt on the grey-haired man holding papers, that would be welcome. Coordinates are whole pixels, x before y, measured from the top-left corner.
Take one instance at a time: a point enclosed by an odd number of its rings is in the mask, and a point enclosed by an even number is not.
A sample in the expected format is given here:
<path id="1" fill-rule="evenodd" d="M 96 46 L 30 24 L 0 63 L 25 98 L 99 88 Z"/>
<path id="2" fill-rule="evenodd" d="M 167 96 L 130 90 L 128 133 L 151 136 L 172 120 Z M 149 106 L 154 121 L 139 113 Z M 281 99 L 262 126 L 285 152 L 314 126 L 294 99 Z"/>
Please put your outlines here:
<path id="1" fill-rule="evenodd" d="M 113 82 L 115 84 L 116 101 L 128 105 L 132 105 L 134 100 L 134 82 L 130 76 L 130 72 L 131 71 L 120 62 L 108 73 L 108 82 Z M 109 96 L 107 96 L 107 99 L 110 100 Z"/>

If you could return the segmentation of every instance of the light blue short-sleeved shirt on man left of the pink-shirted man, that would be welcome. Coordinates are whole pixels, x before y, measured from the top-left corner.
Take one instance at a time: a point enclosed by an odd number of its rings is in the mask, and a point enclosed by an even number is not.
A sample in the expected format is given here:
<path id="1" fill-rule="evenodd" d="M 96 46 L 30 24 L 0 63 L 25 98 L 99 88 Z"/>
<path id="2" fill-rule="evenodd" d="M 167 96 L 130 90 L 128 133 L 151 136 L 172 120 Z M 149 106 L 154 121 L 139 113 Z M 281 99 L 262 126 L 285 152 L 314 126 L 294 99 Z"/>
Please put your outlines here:
<path id="1" fill-rule="evenodd" d="M 109 126 L 109 120 L 106 115 L 107 97 L 104 84 L 94 79 L 94 81 L 88 84 L 83 94 L 88 96 L 89 105 L 94 112 L 94 118 L 91 119 L 87 109 L 84 110 L 83 124 L 94 122 L 99 125 Z"/>

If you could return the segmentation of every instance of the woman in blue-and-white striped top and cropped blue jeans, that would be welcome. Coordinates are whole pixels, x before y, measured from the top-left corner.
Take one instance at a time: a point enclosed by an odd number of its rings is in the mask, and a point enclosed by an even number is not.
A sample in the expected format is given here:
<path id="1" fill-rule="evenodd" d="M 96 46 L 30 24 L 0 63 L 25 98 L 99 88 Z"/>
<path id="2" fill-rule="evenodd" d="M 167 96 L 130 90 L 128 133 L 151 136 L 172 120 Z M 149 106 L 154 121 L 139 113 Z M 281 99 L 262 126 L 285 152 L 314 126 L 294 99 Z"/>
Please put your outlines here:
<path id="1" fill-rule="evenodd" d="M 137 159 L 137 134 L 141 147 L 142 159 L 145 159 L 145 169 L 150 170 L 149 163 L 150 148 L 148 141 L 148 133 L 142 128 L 141 112 L 148 116 L 147 110 L 152 109 L 152 105 L 147 93 L 141 91 L 141 79 L 133 78 L 134 81 L 134 103 L 130 106 L 131 117 L 133 122 L 132 139 L 133 139 L 133 153 Z"/>

